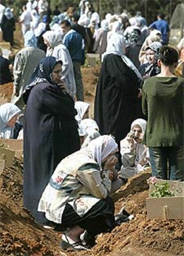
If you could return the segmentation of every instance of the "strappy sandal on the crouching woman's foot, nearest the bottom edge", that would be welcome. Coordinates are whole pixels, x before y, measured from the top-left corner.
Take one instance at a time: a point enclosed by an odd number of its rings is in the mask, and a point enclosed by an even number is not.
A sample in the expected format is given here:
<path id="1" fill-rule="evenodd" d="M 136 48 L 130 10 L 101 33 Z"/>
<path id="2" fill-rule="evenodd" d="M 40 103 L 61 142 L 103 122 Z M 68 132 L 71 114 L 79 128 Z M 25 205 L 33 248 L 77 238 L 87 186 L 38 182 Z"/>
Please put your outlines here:
<path id="1" fill-rule="evenodd" d="M 70 240 L 72 240 L 70 238 Z M 80 250 L 89 250 L 87 245 L 83 245 L 81 243 L 81 241 L 78 242 L 69 242 L 68 240 L 68 236 L 66 234 L 63 234 L 62 239 L 61 239 L 61 243 L 60 243 L 60 247 L 64 250 L 67 250 L 68 248 L 72 248 L 74 250 L 80 251 Z"/>

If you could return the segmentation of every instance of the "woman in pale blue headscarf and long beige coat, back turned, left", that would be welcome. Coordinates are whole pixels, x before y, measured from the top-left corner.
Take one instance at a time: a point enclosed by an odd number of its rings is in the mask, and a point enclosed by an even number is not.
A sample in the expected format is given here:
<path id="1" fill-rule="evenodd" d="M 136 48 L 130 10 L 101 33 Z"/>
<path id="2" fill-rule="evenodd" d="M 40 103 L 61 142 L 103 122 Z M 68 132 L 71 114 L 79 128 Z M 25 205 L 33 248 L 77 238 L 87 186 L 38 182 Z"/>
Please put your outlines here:
<path id="1" fill-rule="evenodd" d="M 13 65 L 14 92 L 12 103 L 21 109 L 20 120 L 24 123 L 23 91 L 39 61 L 44 58 L 44 51 L 36 48 L 36 37 L 33 31 L 26 32 L 24 48 L 16 53 Z"/>

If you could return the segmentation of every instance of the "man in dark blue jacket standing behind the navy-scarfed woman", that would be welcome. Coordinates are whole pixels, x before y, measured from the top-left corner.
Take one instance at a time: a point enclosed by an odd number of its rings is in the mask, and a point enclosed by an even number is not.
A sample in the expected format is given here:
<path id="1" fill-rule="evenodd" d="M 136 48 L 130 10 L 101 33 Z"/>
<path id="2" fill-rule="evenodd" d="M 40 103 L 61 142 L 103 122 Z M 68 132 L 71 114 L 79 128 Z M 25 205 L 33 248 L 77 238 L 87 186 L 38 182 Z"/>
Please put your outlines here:
<path id="1" fill-rule="evenodd" d="M 68 20 L 61 22 L 61 30 L 64 34 L 63 44 L 68 48 L 73 63 L 73 71 L 76 80 L 76 98 L 84 101 L 84 88 L 80 66 L 84 64 L 85 47 L 82 36 L 71 28 Z"/>

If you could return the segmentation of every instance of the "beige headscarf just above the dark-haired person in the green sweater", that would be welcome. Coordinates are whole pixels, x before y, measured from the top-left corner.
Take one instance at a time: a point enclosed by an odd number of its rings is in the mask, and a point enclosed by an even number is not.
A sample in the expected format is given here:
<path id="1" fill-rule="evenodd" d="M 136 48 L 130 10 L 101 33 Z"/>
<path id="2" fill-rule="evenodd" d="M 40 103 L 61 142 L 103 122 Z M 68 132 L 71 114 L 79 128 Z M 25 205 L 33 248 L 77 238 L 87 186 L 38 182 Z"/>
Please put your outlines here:
<path id="1" fill-rule="evenodd" d="M 162 36 L 162 34 L 157 29 L 154 29 L 154 30 L 152 30 L 152 32 L 150 32 L 150 35 L 145 39 L 145 41 L 140 49 L 140 53 L 139 53 L 140 64 L 144 64 L 145 62 L 147 62 L 147 60 L 146 60 L 147 46 L 152 44 L 153 42 L 161 42 L 162 39 L 160 36 Z"/>

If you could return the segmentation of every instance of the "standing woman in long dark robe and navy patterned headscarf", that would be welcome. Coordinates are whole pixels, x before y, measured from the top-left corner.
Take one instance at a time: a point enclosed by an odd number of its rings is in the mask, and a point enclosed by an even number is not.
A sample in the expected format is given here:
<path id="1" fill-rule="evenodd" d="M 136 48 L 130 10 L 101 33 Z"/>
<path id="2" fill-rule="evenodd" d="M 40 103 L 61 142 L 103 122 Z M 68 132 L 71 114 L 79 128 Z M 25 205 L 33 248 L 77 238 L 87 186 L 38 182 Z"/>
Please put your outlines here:
<path id="1" fill-rule="evenodd" d="M 74 101 L 64 92 L 62 62 L 46 57 L 24 92 L 24 207 L 48 225 L 38 202 L 57 164 L 80 149 Z"/>

